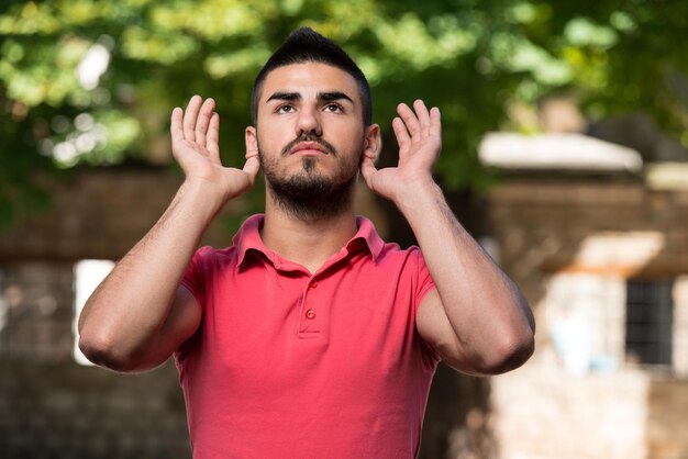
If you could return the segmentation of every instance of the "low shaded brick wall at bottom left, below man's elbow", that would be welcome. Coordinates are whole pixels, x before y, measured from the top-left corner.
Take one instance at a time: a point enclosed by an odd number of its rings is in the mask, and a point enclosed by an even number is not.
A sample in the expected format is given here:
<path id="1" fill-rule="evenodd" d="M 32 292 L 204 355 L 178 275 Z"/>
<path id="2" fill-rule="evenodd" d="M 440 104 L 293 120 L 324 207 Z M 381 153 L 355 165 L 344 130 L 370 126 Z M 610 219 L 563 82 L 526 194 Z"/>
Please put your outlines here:
<path id="1" fill-rule="evenodd" d="M 189 458 L 174 367 L 122 377 L 71 362 L 0 362 L 3 458 Z"/>

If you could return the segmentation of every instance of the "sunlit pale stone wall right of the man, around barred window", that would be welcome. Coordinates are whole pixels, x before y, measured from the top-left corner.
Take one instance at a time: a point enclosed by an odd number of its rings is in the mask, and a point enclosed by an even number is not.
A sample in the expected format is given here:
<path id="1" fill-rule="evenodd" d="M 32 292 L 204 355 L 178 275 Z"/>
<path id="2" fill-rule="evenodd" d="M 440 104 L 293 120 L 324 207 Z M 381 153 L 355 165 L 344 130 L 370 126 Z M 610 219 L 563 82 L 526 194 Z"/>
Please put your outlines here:
<path id="1" fill-rule="evenodd" d="M 492 379 L 502 459 L 688 458 L 688 190 L 640 178 L 512 176 L 488 197 L 501 264 L 537 318 L 534 358 Z M 674 363 L 624 356 L 626 279 L 673 279 Z M 557 317 L 576 314 L 573 365 Z M 576 359 L 585 354 L 585 365 Z M 591 365 L 597 363 L 597 366 Z"/>

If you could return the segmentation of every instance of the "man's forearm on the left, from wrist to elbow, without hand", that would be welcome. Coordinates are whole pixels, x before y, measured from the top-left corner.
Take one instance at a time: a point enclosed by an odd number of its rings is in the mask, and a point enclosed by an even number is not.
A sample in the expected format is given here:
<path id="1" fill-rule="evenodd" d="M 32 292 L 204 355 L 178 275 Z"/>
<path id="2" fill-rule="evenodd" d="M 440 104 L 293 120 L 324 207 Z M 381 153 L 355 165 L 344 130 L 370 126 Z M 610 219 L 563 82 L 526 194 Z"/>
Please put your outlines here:
<path id="1" fill-rule="evenodd" d="M 81 343 L 113 360 L 140 351 L 164 326 L 184 271 L 221 208 L 185 182 L 153 228 L 120 260 L 79 317 Z"/>

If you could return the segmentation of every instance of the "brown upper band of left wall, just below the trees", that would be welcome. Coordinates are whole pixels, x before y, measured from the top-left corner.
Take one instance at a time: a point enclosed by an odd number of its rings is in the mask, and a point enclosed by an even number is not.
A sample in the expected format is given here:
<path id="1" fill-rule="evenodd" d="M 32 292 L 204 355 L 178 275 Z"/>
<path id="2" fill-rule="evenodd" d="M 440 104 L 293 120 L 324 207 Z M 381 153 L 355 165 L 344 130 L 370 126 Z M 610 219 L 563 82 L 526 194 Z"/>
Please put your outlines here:
<path id="1" fill-rule="evenodd" d="M 118 259 L 163 214 L 180 183 L 180 177 L 155 168 L 76 171 L 67 182 L 48 184 L 47 214 L 2 234 L 0 259 Z M 203 243 L 226 245 L 228 219 L 244 210 L 241 199 L 229 203 Z"/>

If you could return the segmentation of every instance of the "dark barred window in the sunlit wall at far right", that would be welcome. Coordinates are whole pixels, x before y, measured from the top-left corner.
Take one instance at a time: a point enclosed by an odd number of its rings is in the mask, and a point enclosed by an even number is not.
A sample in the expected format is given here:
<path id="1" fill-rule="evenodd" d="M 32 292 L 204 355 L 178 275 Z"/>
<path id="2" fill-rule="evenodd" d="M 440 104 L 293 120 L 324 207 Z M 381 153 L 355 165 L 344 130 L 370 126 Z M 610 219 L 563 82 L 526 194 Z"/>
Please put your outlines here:
<path id="1" fill-rule="evenodd" d="M 630 362 L 672 365 L 674 282 L 629 279 L 625 351 Z"/>

